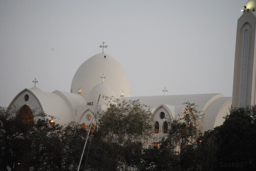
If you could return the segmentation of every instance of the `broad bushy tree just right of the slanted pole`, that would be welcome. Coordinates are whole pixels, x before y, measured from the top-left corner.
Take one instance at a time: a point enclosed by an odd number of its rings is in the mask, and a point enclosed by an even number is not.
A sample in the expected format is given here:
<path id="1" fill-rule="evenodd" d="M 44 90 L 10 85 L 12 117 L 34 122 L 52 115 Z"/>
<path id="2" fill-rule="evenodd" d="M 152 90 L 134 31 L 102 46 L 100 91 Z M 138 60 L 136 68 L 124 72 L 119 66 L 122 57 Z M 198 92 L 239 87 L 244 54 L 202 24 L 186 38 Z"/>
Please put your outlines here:
<path id="1" fill-rule="evenodd" d="M 87 168 L 117 170 L 137 167 L 153 132 L 151 109 L 138 101 L 109 99 L 97 114 Z"/>

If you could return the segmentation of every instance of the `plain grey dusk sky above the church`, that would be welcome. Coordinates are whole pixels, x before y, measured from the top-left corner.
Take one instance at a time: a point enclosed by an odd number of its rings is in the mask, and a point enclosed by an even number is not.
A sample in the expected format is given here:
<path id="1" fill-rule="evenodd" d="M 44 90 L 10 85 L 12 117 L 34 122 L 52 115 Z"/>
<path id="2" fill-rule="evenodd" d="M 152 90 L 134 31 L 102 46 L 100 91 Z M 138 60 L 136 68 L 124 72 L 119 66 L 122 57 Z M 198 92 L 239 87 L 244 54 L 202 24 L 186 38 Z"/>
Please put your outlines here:
<path id="1" fill-rule="evenodd" d="M 247 0 L 0 0 L 0 106 L 34 86 L 70 91 L 78 67 L 104 51 L 131 96 L 232 95 L 237 20 Z"/>

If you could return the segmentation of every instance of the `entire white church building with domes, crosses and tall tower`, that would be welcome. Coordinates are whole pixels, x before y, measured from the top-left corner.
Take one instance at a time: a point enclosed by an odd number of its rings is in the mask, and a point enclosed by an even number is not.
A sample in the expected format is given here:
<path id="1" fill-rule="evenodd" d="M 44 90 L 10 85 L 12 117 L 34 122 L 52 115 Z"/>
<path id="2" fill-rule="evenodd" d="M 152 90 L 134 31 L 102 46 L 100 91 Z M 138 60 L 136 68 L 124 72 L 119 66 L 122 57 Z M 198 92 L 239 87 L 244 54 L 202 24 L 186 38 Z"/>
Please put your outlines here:
<path id="1" fill-rule="evenodd" d="M 99 94 L 98 109 L 103 110 L 106 101 L 102 96 L 114 96 L 121 101 L 139 100 L 152 107 L 154 122 L 159 125 L 157 134 L 161 135 L 166 133 L 167 120 L 178 118 L 185 108 L 183 103 L 189 101 L 204 112 L 201 123 L 203 131 L 212 129 L 223 123 L 223 117 L 229 113 L 231 105 L 245 107 L 256 104 L 255 8 L 256 0 L 248 1 L 238 20 L 232 97 L 225 97 L 221 93 L 131 97 L 125 70 L 113 57 L 103 52 L 107 47 L 103 43 L 100 46 L 102 53 L 89 58 L 77 69 L 70 92 L 55 90 L 49 93 L 36 86 L 25 88 L 14 97 L 9 108 L 17 108 L 18 115 L 24 116 L 24 119 L 44 119 L 33 116 L 32 111 L 35 111 L 58 118 L 55 120 L 58 123 L 76 121 L 90 125 Z"/>

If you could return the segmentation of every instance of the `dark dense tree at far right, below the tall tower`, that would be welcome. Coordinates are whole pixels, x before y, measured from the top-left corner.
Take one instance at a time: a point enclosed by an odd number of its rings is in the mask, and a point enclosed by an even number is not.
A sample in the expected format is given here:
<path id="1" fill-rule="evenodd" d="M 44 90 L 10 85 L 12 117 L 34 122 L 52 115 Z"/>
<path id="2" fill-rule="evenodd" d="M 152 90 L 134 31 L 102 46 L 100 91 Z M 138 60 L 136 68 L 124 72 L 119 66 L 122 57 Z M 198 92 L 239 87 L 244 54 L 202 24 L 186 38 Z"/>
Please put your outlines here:
<path id="1" fill-rule="evenodd" d="M 223 125 L 200 138 L 202 170 L 255 170 L 255 115 L 256 106 L 232 108 Z"/>

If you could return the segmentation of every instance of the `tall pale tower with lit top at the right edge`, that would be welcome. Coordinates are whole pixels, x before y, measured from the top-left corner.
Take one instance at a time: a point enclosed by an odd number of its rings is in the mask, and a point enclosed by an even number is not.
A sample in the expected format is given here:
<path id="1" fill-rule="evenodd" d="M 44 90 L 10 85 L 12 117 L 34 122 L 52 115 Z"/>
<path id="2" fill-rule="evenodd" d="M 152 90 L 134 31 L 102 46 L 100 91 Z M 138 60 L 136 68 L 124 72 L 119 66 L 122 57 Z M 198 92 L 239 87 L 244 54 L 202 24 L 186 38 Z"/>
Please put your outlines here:
<path id="1" fill-rule="evenodd" d="M 238 19 L 232 107 L 256 104 L 256 0 L 250 0 Z"/>

